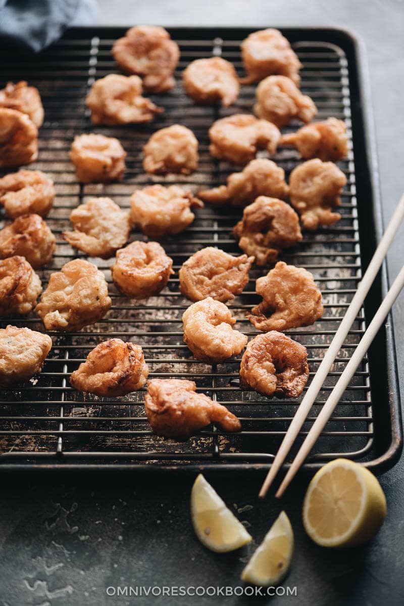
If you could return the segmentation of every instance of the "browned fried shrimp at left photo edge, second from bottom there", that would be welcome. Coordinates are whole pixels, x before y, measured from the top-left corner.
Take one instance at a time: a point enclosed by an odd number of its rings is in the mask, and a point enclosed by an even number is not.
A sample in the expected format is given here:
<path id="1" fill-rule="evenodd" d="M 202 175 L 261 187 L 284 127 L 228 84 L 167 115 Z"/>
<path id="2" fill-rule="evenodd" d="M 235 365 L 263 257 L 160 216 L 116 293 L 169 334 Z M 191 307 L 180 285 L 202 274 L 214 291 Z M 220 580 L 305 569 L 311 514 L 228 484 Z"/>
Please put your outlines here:
<path id="1" fill-rule="evenodd" d="M 0 261 L 0 316 L 26 316 L 36 305 L 41 280 L 24 257 Z"/>

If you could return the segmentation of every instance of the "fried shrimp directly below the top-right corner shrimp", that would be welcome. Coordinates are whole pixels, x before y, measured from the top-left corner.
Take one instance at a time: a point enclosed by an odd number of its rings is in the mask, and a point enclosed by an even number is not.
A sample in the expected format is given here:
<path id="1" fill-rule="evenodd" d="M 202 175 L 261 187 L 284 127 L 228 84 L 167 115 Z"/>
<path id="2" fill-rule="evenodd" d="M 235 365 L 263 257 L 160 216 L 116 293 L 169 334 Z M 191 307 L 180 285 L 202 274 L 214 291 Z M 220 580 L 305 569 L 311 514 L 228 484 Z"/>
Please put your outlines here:
<path id="1" fill-rule="evenodd" d="M 268 76 L 256 89 L 254 113 L 258 118 L 269 120 L 278 128 L 289 124 L 293 118 L 310 122 L 317 113 L 310 97 L 302 95 L 299 88 L 286 76 Z"/>

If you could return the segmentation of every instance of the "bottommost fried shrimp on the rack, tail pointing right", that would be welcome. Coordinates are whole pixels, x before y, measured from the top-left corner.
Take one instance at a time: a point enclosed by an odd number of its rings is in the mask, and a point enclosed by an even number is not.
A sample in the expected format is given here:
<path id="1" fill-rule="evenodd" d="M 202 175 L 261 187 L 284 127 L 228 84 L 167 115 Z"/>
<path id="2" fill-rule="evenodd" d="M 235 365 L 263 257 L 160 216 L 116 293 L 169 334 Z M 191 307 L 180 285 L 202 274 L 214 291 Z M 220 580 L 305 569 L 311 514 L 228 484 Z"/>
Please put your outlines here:
<path id="1" fill-rule="evenodd" d="M 154 433 L 180 442 L 210 423 L 223 431 L 241 430 L 238 418 L 219 402 L 197 393 L 194 381 L 151 379 L 145 409 Z"/>

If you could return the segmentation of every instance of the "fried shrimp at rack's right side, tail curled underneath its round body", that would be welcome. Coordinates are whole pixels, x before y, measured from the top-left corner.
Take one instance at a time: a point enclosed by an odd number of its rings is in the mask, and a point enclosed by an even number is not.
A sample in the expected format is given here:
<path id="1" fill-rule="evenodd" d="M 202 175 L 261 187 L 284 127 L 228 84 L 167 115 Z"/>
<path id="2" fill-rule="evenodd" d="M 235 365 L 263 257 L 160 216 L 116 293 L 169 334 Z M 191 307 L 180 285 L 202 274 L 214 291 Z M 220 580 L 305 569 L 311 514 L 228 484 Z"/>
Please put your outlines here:
<path id="1" fill-rule="evenodd" d="M 299 164 L 289 178 L 291 204 L 298 209 L 301 221 L 307 229 L 319 225 L 333 225 L 341 218 L 331 208 L 339 206 L 339 195 L 347 183 L 342 170 L 333 162 L 318 158 Z"/>

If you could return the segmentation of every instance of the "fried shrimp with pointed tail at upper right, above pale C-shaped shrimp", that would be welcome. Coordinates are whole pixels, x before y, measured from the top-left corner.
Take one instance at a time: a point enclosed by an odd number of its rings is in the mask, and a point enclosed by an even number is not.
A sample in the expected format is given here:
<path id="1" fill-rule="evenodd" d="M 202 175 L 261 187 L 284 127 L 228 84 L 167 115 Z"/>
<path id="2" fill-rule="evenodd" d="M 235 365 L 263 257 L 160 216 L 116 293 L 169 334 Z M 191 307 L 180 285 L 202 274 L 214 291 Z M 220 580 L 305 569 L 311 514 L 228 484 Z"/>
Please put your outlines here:
<path id="1" fill-rule="evenodd" d="M 198 250 L 180 269 L 180 290 L 191 301 L 212 297 L 229 301 L 243 292 L 249 281 L 253 257 L 233 257 L 224 250 L 208 246 Z"/>

